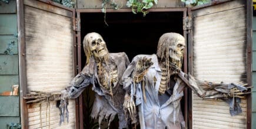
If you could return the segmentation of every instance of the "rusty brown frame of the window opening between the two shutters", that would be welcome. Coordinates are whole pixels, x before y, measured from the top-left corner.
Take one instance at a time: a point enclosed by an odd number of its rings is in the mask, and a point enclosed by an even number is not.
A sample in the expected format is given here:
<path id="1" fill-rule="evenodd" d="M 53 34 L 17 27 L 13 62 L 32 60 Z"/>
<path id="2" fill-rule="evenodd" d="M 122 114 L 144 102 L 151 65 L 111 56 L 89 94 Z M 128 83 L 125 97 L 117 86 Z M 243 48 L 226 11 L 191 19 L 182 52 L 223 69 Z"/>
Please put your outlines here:
<path id="1" fill-rule="evenodd" d="M 149 9 L 148 10 L 149 12 L 183 12 L 183 26 L 186 25 L 186 21 L 185 19 L 187 18 L 187 8 L 155 8 L 155 9 Z M 77 30 L 77 57 L 78 57 L 78 72 L 81 72 L 82 70 L 82 62 L 81 62 L 81 13 L 102 13 L 101 9 L 76 9 L 76 12 L 77 12 L 77 18 L 76 18 L 76 23 L 77 23 L 77 26 L 76 26 L 76 30 Z M 118 12 L 118 13 L 121 13 L 121 12 L 131 12 L 131 9 L 118 9 L 118 10 L 115 10 L 115 9 L 107 9 L 107 12 Z M 182 26 L 181 26 L 182 27 Z M 188 30 L 184 28 L 184 31 L 183 31 L 183 35 L 184 35 L 184 38 L 187 42 L 187 34 L 188 34 Z M 184 58 L 186 59 L 187 58 L 187 46 L 186 46 L 186 49 L 185 49 L 185 54 L 184 54 Z M 187 73 L 188 72 L 188 68 L 187 68 L 187 60 L 184 60 L 184 72 Z M 184 113 L 184 120 L 185 120 L 185 123 L 188 124 L 188 89 L 185 88 L 184 89 L 184 100 L 185 100 L 185 113 Z M 76 110 L 76 118 L 79 118 L 79 120 L 83 120 L 83 116 L 82 116 L 82 95 L 79 96 L 78 98 L 78 103 L 79 103 L 79 113 L 77 113 L 77 110 Z M 78 114 L 78 116 L 77 116 Z M 78 121 L 78 120 L 77 120 Z M 82 122 L 80 122 L 79 124 L 79 128 L 80 129 L 83 129 L 84 128 L 84 125 Z"/>

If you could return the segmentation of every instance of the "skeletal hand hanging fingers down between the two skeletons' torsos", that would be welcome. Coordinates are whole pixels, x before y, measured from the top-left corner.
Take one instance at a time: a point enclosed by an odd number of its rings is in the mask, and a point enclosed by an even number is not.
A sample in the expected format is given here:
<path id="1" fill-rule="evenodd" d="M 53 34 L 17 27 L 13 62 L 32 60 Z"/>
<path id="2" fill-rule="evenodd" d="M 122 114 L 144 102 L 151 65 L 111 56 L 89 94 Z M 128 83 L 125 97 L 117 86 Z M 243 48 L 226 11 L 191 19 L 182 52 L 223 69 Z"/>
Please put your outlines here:
<path id="1" fill-rule="evenodd" d="M 125 94 L 125 99 L 124 99 L 124 110 L 125 112 L 128 111 L 129 116 L 131 117 L 131 120 L 134 121 L 135 120 L 135 114 L 136 114 L 136 107 L 135 107 L 135 103 L 134 100 L 131 100 L 131 96 L 129 96 L 128 94 Z"/>

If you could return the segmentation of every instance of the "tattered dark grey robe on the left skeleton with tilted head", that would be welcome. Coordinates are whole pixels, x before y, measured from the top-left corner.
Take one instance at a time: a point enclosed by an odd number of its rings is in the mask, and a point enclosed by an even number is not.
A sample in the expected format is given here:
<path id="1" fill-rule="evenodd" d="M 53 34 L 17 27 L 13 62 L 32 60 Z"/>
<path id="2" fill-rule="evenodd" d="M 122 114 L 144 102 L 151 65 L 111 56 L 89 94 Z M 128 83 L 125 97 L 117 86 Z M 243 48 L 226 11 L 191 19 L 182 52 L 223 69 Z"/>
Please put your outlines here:
<path id="1" fill-rule="evenodd" d="M 90 62 L 84 67 L 81 73 L 76 77 L 84 76 L 85 80 L 79 86 L 74 86 L 75 79 L 71 82 L 71 87 L 68 88 L 68 94 L 70 99 L 78 97 L 82 91 L 89 84 L 92 84 L 92 90 L 95 91 L 95 101 L 92 107 L 91 117 L 99 118 L 99 125 L 101 121 L 105 118 L 108 120 L 109 124 L 116 114 L 119 118 L 119 128 L 126 128 L 127 121 L 124 118 L 124 95 L 125 91 L 122 88 L 122 74 L 124 73 L 126 67 L 129 65 L 129 59 L 127 55 L 122 53 L 109 53 L 109 60 L 117 66 L 118 70 L 118 82 L 114 83 L 114 88 L 112 87 L 113 96 L 108 90 L 102 88 L 99 83 L 99 78 L 97 74 L 97 63 L 93 57 L 91 57 Z M 76 78 L 75 77 L 75 78 Z"/>

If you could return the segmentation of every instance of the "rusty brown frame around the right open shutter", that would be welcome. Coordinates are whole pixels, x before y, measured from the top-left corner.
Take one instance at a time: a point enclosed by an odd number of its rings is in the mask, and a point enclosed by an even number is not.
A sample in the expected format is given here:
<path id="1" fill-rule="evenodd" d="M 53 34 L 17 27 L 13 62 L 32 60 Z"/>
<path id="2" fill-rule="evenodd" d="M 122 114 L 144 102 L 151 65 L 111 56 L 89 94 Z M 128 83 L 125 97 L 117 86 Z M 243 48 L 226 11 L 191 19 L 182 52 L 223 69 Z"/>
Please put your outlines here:
<path id="1" fill-rule="evenodd" d="M 229 2 L 232 0 L 219 0 L 219 1 L 213 1 L 210 4 L 195 6 L 193 8 L 188 8 L 188 18 L 192 19 L 192 11 L 202 8 L 207 8 L 209 6 L 223 4 L 225 2 Z M 246 21 L 246 28 L 247 28 L 247 83 L 248 86 L 252 86 L 252 0 L 246 1 L 246 15 L 247 15 L 247 21 Z M 193 31 L 192 29 L 188 33 L 188 72 L 192 74 L 192 60 L 193 60 Z M 188 117 L 189 117 L 189 123 L 188 127 L 192 128 L 192 94 L 189 93 L 189 100 L 188 100 Z M 251 94 L 248 94 L 247 96 L 247 128 L 251 128 L 251 113 L 252 113 L 252 98 Z"/>

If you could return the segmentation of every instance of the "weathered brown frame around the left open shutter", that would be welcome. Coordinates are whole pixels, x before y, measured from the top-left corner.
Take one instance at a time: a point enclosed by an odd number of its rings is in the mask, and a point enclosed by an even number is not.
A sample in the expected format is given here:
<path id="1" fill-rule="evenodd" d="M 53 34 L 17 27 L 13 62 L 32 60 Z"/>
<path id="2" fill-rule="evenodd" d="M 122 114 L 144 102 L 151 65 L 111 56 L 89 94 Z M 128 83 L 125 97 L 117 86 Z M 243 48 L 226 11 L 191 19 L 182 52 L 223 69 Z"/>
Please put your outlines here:
<path id="1" fill-rule="evenodd" d="M 67 8 L 64 5 L 56 4 L 52 1 L 47 0 L 37 0 L 36 2 L 43 2 L 45 4 L 55 6 L 61 9 L 65 9 L 67 11 L 71 11 L 73 13 L 72 18 L 74 19 L 75 16 L 75 9 Z M 20 93 L 20 110 L 21 110 L 21 123 L 22 128 L 26 129 L 28 128 L 28 108 L 27 104 L 25 103 L 25 100 L 23 97 L 27 93 L 27 79 L 26 79 L 26 43 L 25 43 L 25 22 L 24 22 L 24 0 L 17 0 L 17 20 L 18 20 L 18 55 L 19 55 L 19 93 Z M 49 11 L 45 9 L 45 11 Z M 49 11 L 51 12 L 51 11 Z M 75 21 L 72 21 L 73 25 L 73 42 L 74 42 L 74 76 L 77 74 L 77 41 L 76 41 L 76 34 L 75 34 Z M 76 109 L 77 109 L 77 101 L 76 102 Z M 76 110 L 77 112 L 77 110 Z M 78 121 L 76 121 L 77 125 Z"/>

